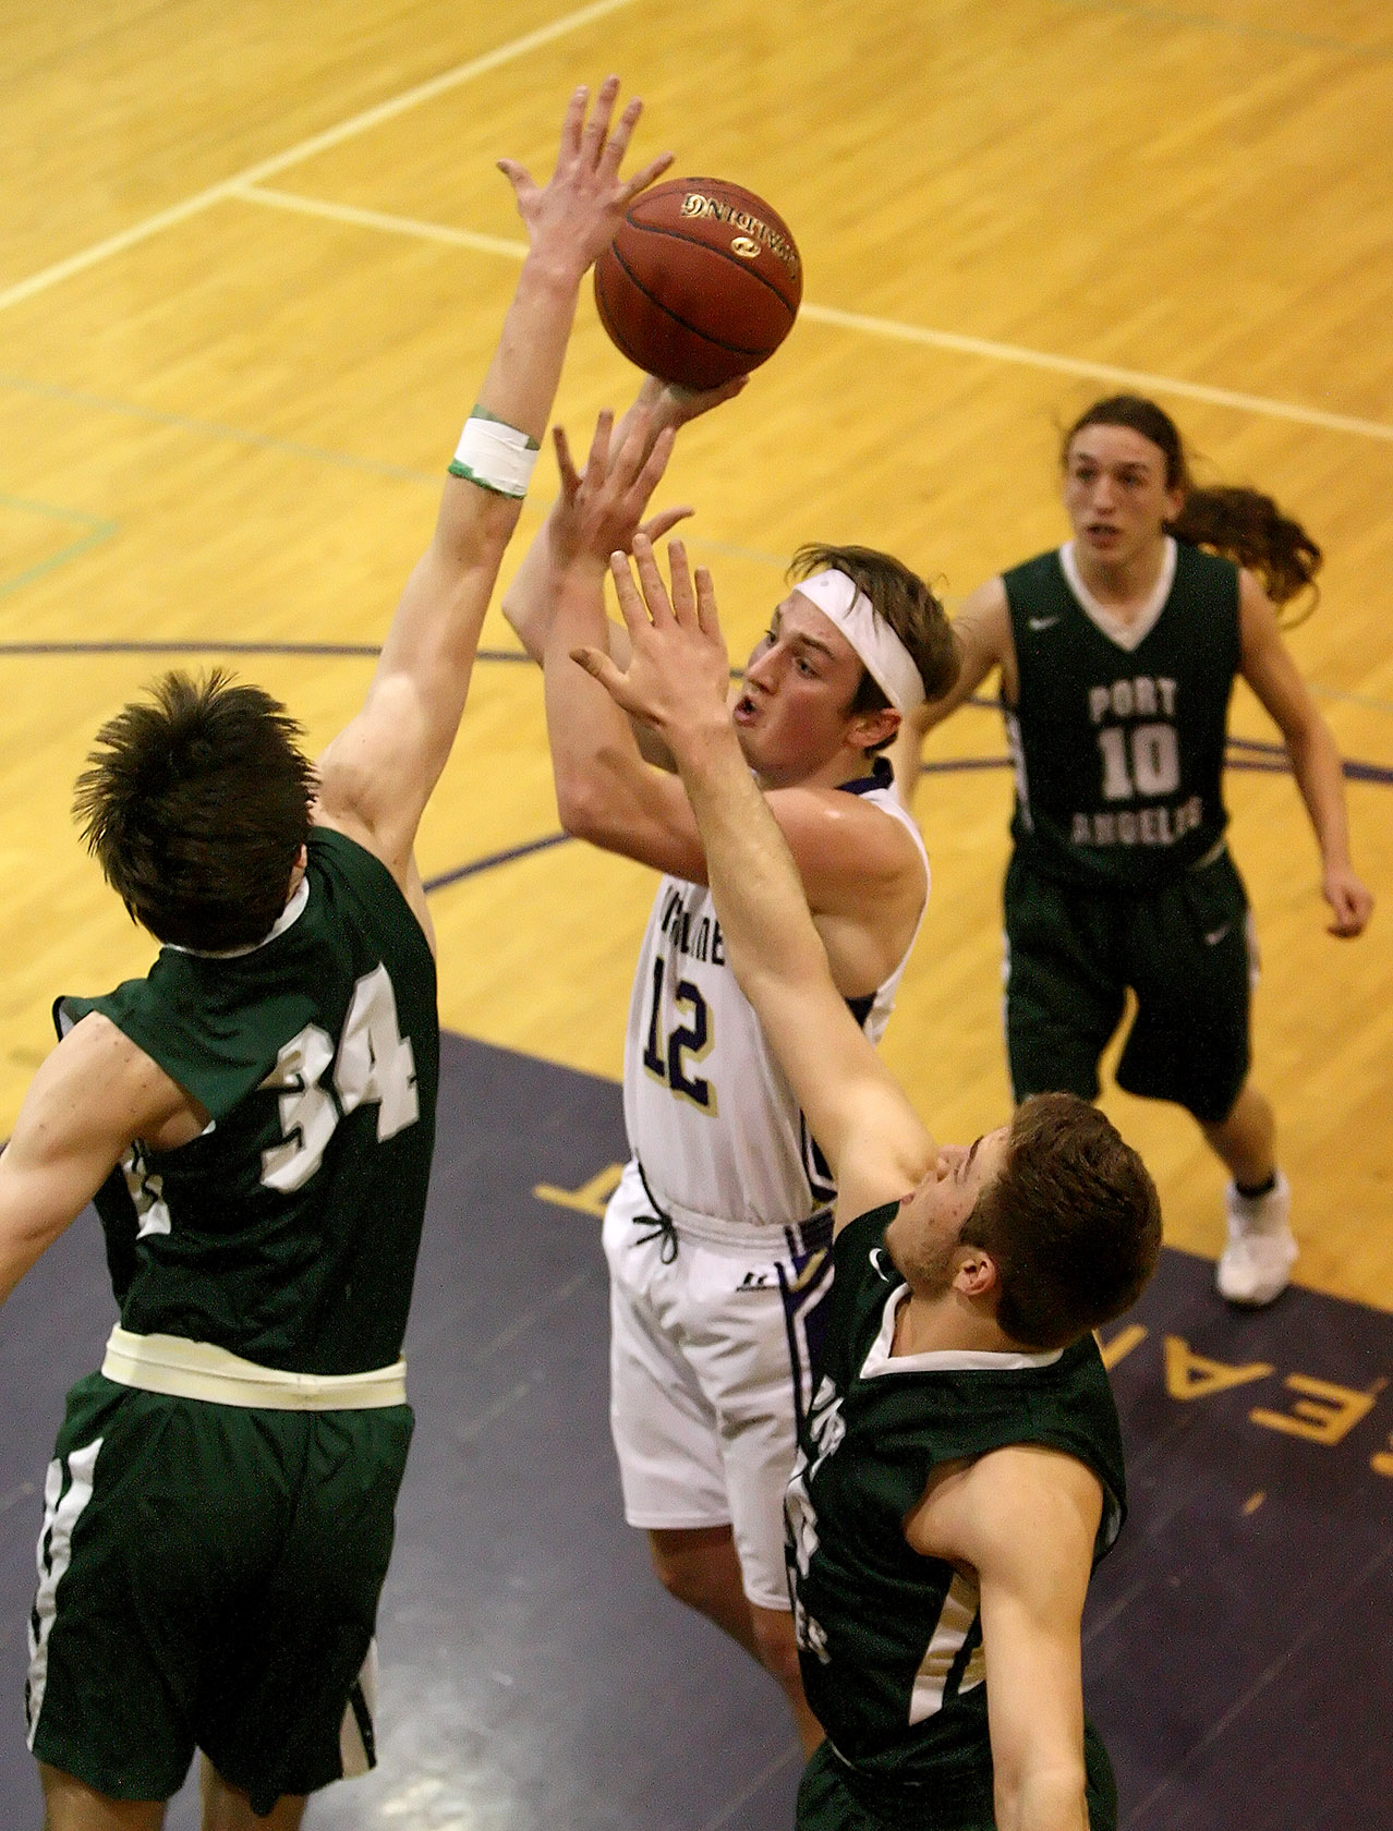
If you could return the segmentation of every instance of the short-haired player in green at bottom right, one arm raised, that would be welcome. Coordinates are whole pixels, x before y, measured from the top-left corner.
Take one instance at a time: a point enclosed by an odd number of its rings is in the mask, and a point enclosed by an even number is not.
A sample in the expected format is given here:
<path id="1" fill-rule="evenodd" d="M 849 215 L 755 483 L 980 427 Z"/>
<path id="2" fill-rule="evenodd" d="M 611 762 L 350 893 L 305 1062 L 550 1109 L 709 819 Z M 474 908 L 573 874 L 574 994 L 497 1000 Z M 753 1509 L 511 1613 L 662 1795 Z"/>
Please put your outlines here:
<path id="1" fill-rule="evenodd" d="M 1089 1331 L 1155 1265 L 1155 1186 L 1071 1093 L 934 1144 L 846 1009 L 750 778 L 710 579 L 694 591 L 674 542 L 668 601 L 643 536 L 633 551 L 643 599 L 613 564 L 628 672 L 595 646 L 577 659 L 681 769 L 732 969 L 838 1185 L 822 1377 L 787 1492 L 804 1686 L 827 1732 L 800 1831 L 1109 1831 L 1080 1619 L 1124 1476 Z"/>

